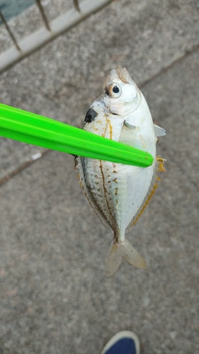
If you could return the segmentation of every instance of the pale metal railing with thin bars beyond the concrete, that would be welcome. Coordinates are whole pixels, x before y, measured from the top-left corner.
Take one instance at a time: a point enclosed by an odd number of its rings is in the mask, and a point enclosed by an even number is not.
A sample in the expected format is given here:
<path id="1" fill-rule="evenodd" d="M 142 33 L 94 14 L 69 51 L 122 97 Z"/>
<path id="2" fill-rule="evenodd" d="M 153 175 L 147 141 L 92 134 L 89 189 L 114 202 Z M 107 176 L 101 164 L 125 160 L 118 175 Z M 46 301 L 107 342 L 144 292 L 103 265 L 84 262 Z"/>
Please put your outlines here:
<path id="1" fill-rule="evenodd" d="M 79 4 L 79 0 L 73 0 L 73 8 L 57 16 L 54 20 L 48 21 L 41 1 L 35 0 L 44 26 L 19 41 L 16 40 L 13 31 L 6 22 L 3 13 L 0 11 L 1 21 L 4 23 L 8 35 L 13 41 L 13 46 L 0 54 L 0 74 L 13 64 L 16 64 L 19 60 L 28 57 L 28 55 L 38 50 L 47 42 L 50 42 L 89 17 L 91 13 L 95 13 L 110 4 L 112 1 L 113 0 L 84 0 Z"/>

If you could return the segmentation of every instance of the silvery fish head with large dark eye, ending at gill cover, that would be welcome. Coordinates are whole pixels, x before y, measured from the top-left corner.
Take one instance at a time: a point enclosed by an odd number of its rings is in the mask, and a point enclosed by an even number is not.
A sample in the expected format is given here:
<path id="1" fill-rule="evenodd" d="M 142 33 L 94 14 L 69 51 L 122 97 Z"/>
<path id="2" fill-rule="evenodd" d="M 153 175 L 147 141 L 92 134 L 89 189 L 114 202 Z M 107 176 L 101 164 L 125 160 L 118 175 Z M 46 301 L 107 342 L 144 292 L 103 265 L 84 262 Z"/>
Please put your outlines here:
<path id="1" fill-rule="evenodd" d="M 141 92 L 126 68 L 117 67 L 103 83 L 100 95 L 96 98 L 107 115 L 124 117 L 140 105 Z M 96 103 L 95 101 L 95 103 Z"/>

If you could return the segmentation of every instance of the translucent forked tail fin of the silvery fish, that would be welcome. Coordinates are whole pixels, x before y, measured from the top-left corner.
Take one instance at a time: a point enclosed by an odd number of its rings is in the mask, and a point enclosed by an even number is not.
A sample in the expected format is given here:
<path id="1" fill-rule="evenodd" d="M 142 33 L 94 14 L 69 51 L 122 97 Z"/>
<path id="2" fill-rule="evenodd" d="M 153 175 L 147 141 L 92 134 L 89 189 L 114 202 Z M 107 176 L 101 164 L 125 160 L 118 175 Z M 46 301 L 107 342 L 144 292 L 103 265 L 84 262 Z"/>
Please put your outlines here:
<path id="1" fill-rule="evenodd" d="M 123 243 L 119 244 L 118 242 L 115 242 L 110 247 L 108 258 L 106 260 L 106 273 L 108 277 L 118 270 L 123 258 L 137 268 L 147 268 L 147 263 L 144 261 L 144 258 L 142 258 L 140 253 L 138 253 L 130 244 L 130 241 L 125 239 Z"/>

